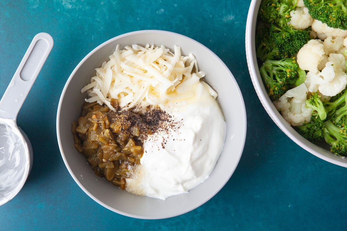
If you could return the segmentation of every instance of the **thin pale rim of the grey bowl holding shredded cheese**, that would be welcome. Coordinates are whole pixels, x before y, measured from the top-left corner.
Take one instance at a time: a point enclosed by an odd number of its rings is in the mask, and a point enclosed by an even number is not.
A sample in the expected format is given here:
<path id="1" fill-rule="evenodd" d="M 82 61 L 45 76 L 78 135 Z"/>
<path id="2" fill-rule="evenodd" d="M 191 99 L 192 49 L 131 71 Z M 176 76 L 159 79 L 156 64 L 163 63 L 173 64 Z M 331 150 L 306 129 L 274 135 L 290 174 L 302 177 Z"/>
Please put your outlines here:
<path id="1" fill-rule="evenodd" d="M 238 154 L 238 157 L 237 157 L 237 160 L 236 160 L 236 164 L 235 164 L 235 167 L 233 169 L 230 170 L 230 174 L 229 176 L 226 178 L 226 181 L 220 185 L 219 188 L 216 188 L 215 189 L 215 192 L 209 196 L 208 198 L 204 199 L 201 203 L 198 203 L 194 206 L 191 206 L 183 211 L 180 211 L 180 212 L 177 212 L 175 214 L 171 214 L 170 216 L 142 216 L 142 215 L 134 215 L 134 214 L 130 214 L 130 213 L 126 213 L 126 212 L 122 212 L 120 210 L 117 210 L 103 202 L 101 202 L 98 198 L 96 198 L 94 195 L 92 195 L 91 193 L 88 192 L 88 190 L 86 190 L 86 188 L 79 182 L 79 180 L 77 179 L 77 177 L 75 176 L 75 174 L 73 173 L 72 169 L 70 168 L 68 162 L 67 162 L 67 159 L 65 158 L 65 153 L 63 151 L 63 148 L 62 148 L 62 143 L 61 143 L 61 139 L 60 139 L 60 129 L 59 129 L 59 126 L 60 126 L 60 123 L 59 123 L 59 118 L 60 118 L 60 110 L 61 110 L 61 104 L 62 104 L 62 100 L 64 98 L 64 95 L 65 95 L 65 92 L 67 90 L 67 87 L 71 81 L 71 79 L 74 77 L 75 73 L 77 72 L 77 70 L 81 67 L 81 65 L 90 57 L 92 56 L 96 51 L 98 51 L 101 47 L 117 40 L 117 39 L 120 39 L 120 38 L 123 38 L 123 37 L 127 37 L 127 36 L 131 36 L 131 35 L 135 35 L 135 34 L 144 34 L 144 33 L 161 33 L 161 34 L 169 34 L 169 35 L 173 35 L 173 36 L 179 36 L 179 37 L 183 37 L 193 43 L 196 43 L 197 45 L 199 45 L 201 48 L 203 48 L 204 50 L 206 50 L 207 52 L 211 53 L 212 56 L 214 56 L 215 59 L 217 59 L 221 64 L 222 66 L 226 69 L 226 71 L 228 72 L 229 76 L 227 78 L 231 78 L 231 80 L 235 83 L 235 86 L 236 86 L 236 89 L 238 91 L 238 94 L 240 96 L 240 99 L 241 99 L 241 105 L 242 105 L 242 112 L 240 114 L 242 114 L 243 118 L 244 118 L 244 134 L 243 134 L 243 142 L 241 144 L 241 149 L 240 149 L 240 153 Z M 65 86 L 64 86 L 64 89 L 62 90 L 62 93 L 61 93 L 61 96 L 60 96 L 60 99 L 59 99 L 59 104 L 58 104 L 58 109 L 57 109 L 57 122 L 56 122 L 56 129 L 57 129 L 57 139 L 58 139 L 58 145 L 59 145 L 59 150 L 60 150 L 60 153 L 61 153 L 61 156 L 62 156 L 62 159 L 64 160 L 64 163 L 65 163 L 65 166 L 66 168 L 68 169 L 71 177 L 75 180 L 75 182 L 77 183 L 77 185 L 84 191 L 84 193 L 86 193 L 90 198 L 92 198 L 95 202 L 99 203 L 100 205 L 102 205 L 103 207 L 111 210 L 112 212 L 116 212 L 118 214 L 121 214 L 121 215 L 124 215 L 124 216 L 128 216 L 128 217 L 133 217 L 133 218 L 137 218 L 137 219 L 148 219 L 148 220 L 154 220 L 154 219 L 166 219 L 166 218 L 170 218 L 170 217 L 175 217 L 175 216 L 179 216 L 179 215 L 182 215 L 182 214 L 185 214 L 187 212 L 190 212 L 192 210 L 194 210 L 195 208 L 203 205 L 204 203 L 206 203 L 207 201 L 209 201 L 213 196 L 215 196 L 224 186 L 225 184 L 229 181 L 230 177 L 232 176 L 232 174 L 234 174 L 235 172 L 235 169 L 237 168 L 238 166 L 238 163 L 240 161 L 240 158 L 243 154 L 243 150 L 244 150 L 244 146 L 245 146 L 245 141 L 246 141 L 246 134 L 247 134 L 247 116 L 246 116 L 246 108 L 245 108 L 245 103 L 244 103 L 244 99 L 243 99 L 243 96 L 242 96 L 242 92 L 237 84 L 237 81 L 234 77 L 234 75 L 231 73 L 231 71 L 229 70 L 229 68 L 227 67 L 227 65 L 214 53 L 212 52 L 209 48 L 207 48 L 206 46 L 204 46 L 203 44 L 197 42 L 196 40 L 192 39 L 192 38 L 189 38 L 185 35 L 181 35 L 181 34 L 178 34 L 178 33 L 175 33 L 175 32 L 169 32 L 169 31 L 166 31 L 166 30 L 136 30 L 136 31 L 133 31 L 133 32 L 128 32 L 128 33 L 125 33 L 125 34 L 121 34 L 121 35 L 118 35 L 116 37 L 113 37 L 105 42 L 103 42 L 102 44 L 100 44 L 99 46 L 95 47 L 91 52 L 89 52 L 78 64 L 77 66 L 75 67 L 75 69 L 73 70 L 73 72 L 71 72 L 69 78 L 67 79 L 66 83 L 65 83 Z M 223 151 L 222 151 L 223 153 Z"/>

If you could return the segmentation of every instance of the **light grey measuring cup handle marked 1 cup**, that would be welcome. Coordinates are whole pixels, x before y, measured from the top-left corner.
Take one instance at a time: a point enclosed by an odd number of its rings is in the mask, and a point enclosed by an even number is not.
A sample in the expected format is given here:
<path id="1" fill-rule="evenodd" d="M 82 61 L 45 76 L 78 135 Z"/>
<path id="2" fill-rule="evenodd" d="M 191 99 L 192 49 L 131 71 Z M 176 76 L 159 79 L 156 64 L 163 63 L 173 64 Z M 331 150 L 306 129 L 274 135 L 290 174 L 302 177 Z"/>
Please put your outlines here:
<path id="1" fill-rule="evenodd" d="M 0 117 L 15 119 L 53 47 L 47 33 L 35 35 L 0 100 Z"/>

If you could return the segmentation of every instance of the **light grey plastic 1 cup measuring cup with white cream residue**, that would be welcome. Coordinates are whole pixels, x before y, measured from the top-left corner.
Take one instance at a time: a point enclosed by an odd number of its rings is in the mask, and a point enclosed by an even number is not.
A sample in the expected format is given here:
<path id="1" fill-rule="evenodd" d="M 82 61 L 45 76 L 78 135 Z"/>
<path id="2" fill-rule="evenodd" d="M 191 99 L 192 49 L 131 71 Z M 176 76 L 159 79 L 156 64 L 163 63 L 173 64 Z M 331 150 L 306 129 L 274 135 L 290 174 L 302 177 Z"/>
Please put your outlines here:
<path id="1" fill-rule="evenodd" d="M 35 35 L 0 101 L 0 205 L 22 189 L 33 165 L 31 143 L 16 118 L 52 47 L 49 34 Z"/>

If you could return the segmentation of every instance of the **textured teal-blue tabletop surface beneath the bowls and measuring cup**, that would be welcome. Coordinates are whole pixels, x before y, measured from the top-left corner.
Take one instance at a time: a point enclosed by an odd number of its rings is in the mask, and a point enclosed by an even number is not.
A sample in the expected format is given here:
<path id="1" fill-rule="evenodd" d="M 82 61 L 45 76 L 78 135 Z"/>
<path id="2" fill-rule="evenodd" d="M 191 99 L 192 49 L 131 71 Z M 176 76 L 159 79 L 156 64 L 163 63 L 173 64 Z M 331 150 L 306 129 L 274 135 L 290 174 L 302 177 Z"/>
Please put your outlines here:
<path id="1" fill-rule="evenodd" d="M 244 36 L 250 0 L 0 1 L 0 95 L 35 34 L 53 50 L 19 115 L 34 149 L 20 193 L 0 207 L 0 230 L 346 230 L 347 169 L 304 151 L 271 121 L 253 89 Z M 248 120 L 243 156 L 226 186 L 187 214 L 157 221 L 113 213 L 70 177 L 58 149 L 56 112 L 77 63 L 117 35 L 162 29 L 189 36 L 234 73 Z"/>

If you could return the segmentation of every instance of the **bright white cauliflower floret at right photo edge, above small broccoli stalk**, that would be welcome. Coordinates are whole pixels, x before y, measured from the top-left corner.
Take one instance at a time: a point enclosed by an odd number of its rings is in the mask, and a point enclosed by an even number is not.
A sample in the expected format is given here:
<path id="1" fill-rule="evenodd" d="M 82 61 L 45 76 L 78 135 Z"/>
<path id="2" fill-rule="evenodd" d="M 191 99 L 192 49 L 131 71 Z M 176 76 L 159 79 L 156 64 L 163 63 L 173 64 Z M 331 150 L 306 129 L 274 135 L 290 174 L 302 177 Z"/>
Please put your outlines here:
<path id="1" fill-rule="evenodd" d="M 329 57 L 330 58 L 330 57 Z M 308 72 L 305 84 L 310 92 L 319 90 L 324 96 L 336 96 L 346 88 L 347 74 L 338 68 L 340 57 L 332 56 L 321 72 Z"/>

